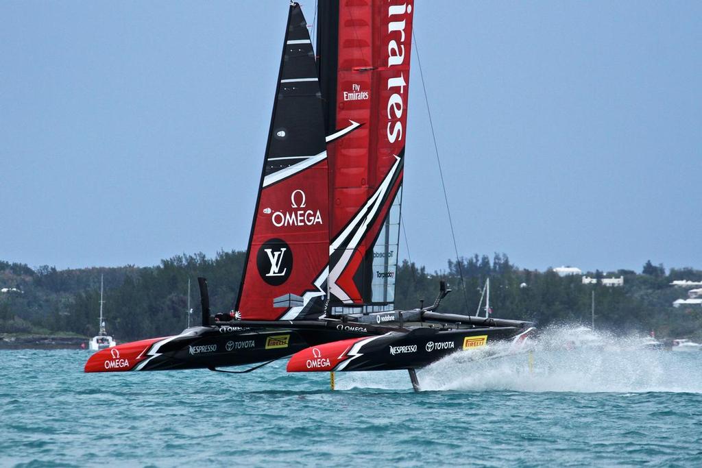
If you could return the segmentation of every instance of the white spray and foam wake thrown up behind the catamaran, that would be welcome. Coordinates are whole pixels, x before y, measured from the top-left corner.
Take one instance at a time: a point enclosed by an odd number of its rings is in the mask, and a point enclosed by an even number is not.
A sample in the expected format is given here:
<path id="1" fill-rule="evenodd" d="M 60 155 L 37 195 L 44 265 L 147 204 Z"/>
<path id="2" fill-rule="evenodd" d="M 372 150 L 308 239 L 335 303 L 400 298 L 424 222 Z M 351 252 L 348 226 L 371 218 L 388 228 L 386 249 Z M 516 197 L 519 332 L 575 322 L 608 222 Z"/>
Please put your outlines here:
<path id="1" fill-rule="evenodd" d="M 642 349 L 639 337 L 590 330 L 574 340 L 582 330 L 544 330 L 520 354 L 501 344 L 452 354 L 420 370 L 420 385 L 423 391 L 702 393 L 702 353 Z M 504 356 L 484 359 L 495 355 Z M 411 388 L 406 371 L 341 374 L 338 389 Z"/>

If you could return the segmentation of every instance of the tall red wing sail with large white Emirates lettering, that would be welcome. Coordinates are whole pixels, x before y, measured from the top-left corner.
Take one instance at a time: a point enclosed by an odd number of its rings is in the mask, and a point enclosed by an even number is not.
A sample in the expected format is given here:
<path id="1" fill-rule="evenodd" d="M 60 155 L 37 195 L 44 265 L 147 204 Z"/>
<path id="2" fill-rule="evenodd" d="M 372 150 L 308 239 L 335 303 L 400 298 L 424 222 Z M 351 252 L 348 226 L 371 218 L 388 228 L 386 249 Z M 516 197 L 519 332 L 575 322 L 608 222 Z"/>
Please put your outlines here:
<path id="1" fill-rule="evenodd" d="M 327 147 L 331 305 L 392 308 L 413 1 L 326 3 L 318 43 L 327 132 L 361 124 Z"/>

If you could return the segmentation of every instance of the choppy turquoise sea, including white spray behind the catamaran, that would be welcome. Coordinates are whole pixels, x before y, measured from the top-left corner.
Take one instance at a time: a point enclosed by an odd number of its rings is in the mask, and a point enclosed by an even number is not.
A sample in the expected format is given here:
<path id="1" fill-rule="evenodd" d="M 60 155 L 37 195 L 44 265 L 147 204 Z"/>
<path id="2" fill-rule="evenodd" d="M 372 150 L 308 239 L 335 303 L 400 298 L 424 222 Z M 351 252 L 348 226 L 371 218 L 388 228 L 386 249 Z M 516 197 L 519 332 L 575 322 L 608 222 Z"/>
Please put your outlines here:
<path id="1" fill-rule="evenodd" d="M 607 338 L 609 340 L 609 337 Z M 539 346 L 419 373 L 84 374 L 0 351 L 0 466 L 702 466 L 702 353 Z"/>

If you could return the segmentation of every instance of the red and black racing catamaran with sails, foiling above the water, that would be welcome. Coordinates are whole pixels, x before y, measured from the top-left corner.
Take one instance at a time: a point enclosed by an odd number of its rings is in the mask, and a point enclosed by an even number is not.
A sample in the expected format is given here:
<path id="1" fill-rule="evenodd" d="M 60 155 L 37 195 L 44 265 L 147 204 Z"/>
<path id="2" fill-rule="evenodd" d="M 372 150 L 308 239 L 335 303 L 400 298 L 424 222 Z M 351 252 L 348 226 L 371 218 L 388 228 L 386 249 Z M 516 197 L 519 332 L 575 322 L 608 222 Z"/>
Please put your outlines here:
<path id="1" fill-rule="evenodd" d="M 237 304 L 201 326 L 93 355 L 86 372 L 267 363 L 289 371 L 415 370 L 523 340 L 529 322 L 396 310 L 413 1 L 319 2 L 317 57 L 290 5 Z"/>

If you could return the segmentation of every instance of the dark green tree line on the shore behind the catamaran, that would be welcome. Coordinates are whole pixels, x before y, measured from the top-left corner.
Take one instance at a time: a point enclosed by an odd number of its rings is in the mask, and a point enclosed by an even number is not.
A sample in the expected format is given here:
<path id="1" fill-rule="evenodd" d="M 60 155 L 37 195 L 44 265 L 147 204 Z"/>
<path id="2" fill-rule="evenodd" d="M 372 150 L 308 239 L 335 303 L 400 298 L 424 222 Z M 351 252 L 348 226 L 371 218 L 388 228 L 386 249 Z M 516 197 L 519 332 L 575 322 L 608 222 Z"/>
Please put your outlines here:
<path id="1" fill-rule="evenodd" d="M 104 314 L 107 330 L 119 341 L 173 335 L 187 321 L 187 282 L 192 281 L 192 319 L 199 321 L 197 276 L 208 279 L 211 309 L 232 309 L 246 253 L 219 252 L 214 258 L 202 253 L 176 255 L 154 267 L 94 267 L 64 269 L 0 261 L 0 333 L 98 332 L 100 276 L 105 281 Z M 588 272 L 601 279 L 604 272 Z M 493 316 L 552 323 L 590 323 L 592 292 L 598 328 L 628 333 L 636 330 L 658 336 L 702 338 L 702 309 L 675 309 L 672 303 L 686 290 L 673 288 L 676 279 L 702 279 L 702 271 L 670 269 L 650 261 L 641 273 L 620 269 L 607 276 L 623 276 L 623 287 L 583 284 L 581 276 L 559 276 L 520 269 L 508 256 L 496 253 L 449 260 L 442 272 L 404 260 L 397 267 L 396 307 L 411 309 L 430 304 L 446 281 L 453 292 L 442 303 L 442 312 L 475 314 L 486 279 L 490 279 Z"/>

